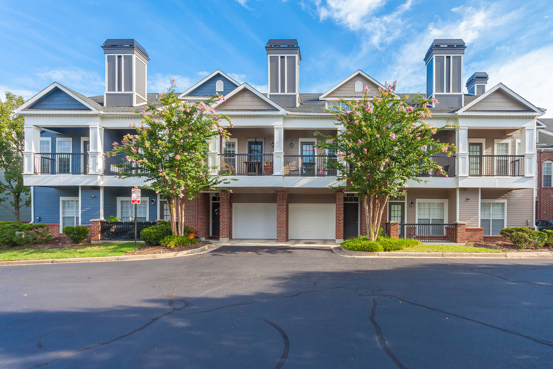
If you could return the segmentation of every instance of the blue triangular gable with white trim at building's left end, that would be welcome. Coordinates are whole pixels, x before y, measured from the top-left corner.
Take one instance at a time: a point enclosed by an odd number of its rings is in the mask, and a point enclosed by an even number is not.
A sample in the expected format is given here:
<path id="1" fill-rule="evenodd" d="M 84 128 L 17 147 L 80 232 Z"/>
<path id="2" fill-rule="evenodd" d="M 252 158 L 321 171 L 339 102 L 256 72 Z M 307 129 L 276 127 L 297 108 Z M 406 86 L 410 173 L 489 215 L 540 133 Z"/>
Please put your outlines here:
<path id="1" fill-rule="evenodd" d="M 63 102 L 59 105 L 60 108 L 56 108 L 52 105 L 53 100 L 46 101 L 49 97 L 55 97 L 57 100 Z M 72 100 L 71 100 L 72 99 Z M 16 113 L 22 111 L 58 111 L 58 110 L 71 110 L 71 111 L 87 111 L 97 113 L 102 111 L 102 106 L 89 97 L 81 95 L 79 92 L 75 92 L 64 85 L 54 82 L 44 90 L 31 97 L 27 102 L 15 110 Z"/>

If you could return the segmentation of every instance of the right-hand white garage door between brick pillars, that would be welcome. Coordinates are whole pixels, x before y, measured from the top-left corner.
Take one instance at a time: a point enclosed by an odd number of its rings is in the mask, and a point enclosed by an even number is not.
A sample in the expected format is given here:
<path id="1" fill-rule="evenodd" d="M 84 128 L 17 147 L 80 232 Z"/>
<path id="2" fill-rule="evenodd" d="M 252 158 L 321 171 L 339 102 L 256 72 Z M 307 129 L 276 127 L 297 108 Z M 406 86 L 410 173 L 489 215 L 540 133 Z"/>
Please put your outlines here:
<path id="1" fill-rule="evenodd" d="M 290 240 L 335 239 L 335 204 L 290 204 L 288 207 Z"/>

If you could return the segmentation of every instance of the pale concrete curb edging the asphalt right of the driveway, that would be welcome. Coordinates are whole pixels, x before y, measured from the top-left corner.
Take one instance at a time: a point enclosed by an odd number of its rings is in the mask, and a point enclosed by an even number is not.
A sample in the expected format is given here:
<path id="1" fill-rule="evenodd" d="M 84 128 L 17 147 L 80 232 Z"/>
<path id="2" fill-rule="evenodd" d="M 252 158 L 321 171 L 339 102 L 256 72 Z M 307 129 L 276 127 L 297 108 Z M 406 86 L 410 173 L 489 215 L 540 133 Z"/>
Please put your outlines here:
<path id="1" fill-rule="evenodd" d="M 553 252 L 364 252 L 351 251 L 342 246 L 332 247 L 332 252 L 348 257 L 425 257 L 425 258 L 550 258 Z"/>

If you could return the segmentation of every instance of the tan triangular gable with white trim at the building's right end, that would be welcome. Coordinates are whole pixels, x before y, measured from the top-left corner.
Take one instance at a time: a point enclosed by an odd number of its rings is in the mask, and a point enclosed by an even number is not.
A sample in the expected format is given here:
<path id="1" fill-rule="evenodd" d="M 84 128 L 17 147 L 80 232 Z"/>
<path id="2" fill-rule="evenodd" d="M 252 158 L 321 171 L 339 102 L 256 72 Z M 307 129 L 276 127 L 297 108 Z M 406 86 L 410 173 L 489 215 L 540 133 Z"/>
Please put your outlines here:
<path id="1" fill-rule="evenodd" d="M 495 85 L 458 110 L 458 113 L 468 112 L 531 113 L 536 115 L 544 113 L 502 83 Z"/>

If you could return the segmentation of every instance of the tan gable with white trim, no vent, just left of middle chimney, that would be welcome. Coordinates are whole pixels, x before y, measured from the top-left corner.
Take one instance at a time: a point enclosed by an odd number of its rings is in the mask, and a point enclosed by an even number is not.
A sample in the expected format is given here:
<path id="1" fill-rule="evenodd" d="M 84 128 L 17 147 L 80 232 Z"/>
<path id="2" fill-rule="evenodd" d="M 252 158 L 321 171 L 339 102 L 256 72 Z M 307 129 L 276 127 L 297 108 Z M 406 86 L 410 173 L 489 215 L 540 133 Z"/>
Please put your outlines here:
<path id="1" fill-rule="evenodd" d="M 225 97 L 225 101 L 214 102 L 211 106 L 217 111 L 225 112 L 286 114 L 283 107 L 245 82 L 229 93 Z"/>

